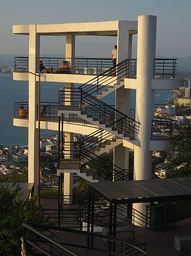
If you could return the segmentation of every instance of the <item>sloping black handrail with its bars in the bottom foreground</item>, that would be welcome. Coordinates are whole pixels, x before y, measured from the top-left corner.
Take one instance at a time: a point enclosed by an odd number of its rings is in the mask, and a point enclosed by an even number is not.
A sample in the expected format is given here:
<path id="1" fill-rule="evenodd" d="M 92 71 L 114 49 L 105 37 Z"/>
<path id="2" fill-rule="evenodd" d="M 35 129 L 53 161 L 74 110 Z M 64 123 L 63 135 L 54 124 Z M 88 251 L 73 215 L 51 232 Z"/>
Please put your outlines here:
<path id="1" fill-rule="evenodd" d="M 33 233 L 37 234 L 38 236 L 42 237 L 43 239 L 47 240 L 50 243 L 53 243 L 53 245 L 56 245 L 58 248 L 62 249 L 64 252 L 67 252 L 69 255 L 73 255 L 73 256 L 79 256 L 79 254 L 77 254 L 76 252 L 74 252 L 72 249 L 67 248 L 66 245 L 68 246 L 74 246 L 76 248 L 87 248 L 87 249 L 91 249 L 94 251 L 100 251 L 100 252 L 104 252 L 106 254 L 111 253 L 112 255 L 121 255 L 121 256 L 125 256 L 125 249 L 127 249 L 127 247 L 134 249 L 135 252 L 139 252 L 140 254 L 143 255 L 148 255 L 147 252 L 143 251 L 143 249 L 138 248 L 135 245 L 131 245 L 130 243 L 121 241 L 119 239 L 113 238 L 113 237 L 109 237 L 109 236 L 104 236 L 102 234 L 96 234 L 96 233 L 91 233 L 88 231 L 81 231 L 81 230 L 73 230 L 70 228 L 64 228 L 64 227 L 55 227 L 53 225 L 47 225 L 47 224 L 36 224 L 36 223 L 31 223 L 31 222 L 25 222 L 23 223 L 23 227 L 24 229 L 30 230 Z M 64 231 L 67 233 L 73 233 L 73 234 L 79 234 L 85 237 L 92 237 L 92 238 L 98 238 L 98 239 L 104 239 L 107 242 L 110 243 L 115 243 L 118 245 L 121 245 L 121 252 L 115 252 L 115 249 L 109 248 L 109 249 L 101 249 L 98 248 L 98 246 L 83 246 L 83 245 L 79 245 L 77 243 L 66 243 L 66 242 L 57 242 L 55 239 L 52 239 L 48 236 L 46 236 L 45 234 L 42 233 L 42 231 L 39 231 L 36 228 L 43 228 L 44 230 L 59 230 L 59 231 Z M 26 241 L 26 232 L 25 233 L 25 237 L 24 237 L 24 242 Z M 115 246 L 113 246 L 114 248 Z M 126 248 L 125 248 L 126 247 Z"/>

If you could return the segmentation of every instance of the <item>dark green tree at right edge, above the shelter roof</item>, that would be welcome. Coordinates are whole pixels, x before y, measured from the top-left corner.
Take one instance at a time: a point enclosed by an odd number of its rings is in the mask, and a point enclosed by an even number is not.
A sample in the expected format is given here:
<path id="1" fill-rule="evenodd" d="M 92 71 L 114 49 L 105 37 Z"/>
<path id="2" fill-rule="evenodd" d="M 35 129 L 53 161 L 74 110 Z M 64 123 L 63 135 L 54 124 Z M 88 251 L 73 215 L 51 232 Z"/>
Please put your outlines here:
<path id="1" fill-rule="evenodd" d="M 170 138 L 174 149 L 178 152 L 170 159 L 170 171 L 167 177 L 190 177 L 191 176 L 191 125 L 186 127 L 177 126 L 178 134 Z M 183 165 L 177 169 L 179 165 Z"/>

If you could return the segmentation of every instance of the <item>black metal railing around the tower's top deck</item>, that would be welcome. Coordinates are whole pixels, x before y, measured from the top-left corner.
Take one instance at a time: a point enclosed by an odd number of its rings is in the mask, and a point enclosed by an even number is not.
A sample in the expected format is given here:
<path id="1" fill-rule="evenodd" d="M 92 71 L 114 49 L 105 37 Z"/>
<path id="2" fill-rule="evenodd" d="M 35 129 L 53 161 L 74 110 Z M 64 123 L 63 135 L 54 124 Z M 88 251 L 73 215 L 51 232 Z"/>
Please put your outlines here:
<path id="1" fill-rule="evenodd" d="M 67 62 L 67 68 L 71 74 L 83 75 L 100 75 L 113 76 L 108 70 L 112 68 L 112 59 L 110 58 L 36 58 L 36 69 L 39 71 L 39 61 L 42 61 L 47 72 L 55 73 L 59 70 L 63 61 Z M 127 61 L 127 60 L 125 60 Z M 127 65 L 128 73 L 131 73 L 131 78 L 136 77 L 137 60 L 131 59 L 130 65 Z M 27 72 L 29 71 L 29 57 L 15 57 L 14 71 Z M 153 79 L 175 79 L 177 71 L 177 59 L 154 59 Z M 105 73 L 104 73 L 105 72 Z M 115 71 L 114 71 L 115 74 Z"/>

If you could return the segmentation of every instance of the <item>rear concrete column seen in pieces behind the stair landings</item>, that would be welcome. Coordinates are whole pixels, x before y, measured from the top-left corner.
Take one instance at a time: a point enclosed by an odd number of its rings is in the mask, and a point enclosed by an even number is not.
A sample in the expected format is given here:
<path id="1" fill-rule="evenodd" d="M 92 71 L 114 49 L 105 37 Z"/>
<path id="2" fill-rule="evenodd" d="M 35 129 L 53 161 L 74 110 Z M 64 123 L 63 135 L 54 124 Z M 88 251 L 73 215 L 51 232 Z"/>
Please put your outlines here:
<path id="1" fill-rule="evenodd" d="M 69 59 L 67 59 L 69 58 Z M 66 61 L 70 62 L 72 66 L 74 61 L 71 58 L 75 58 L 75 36 L 67 35 L 66 36 Z M 67 91 L 67 99 L 72 99 L 72 93 L 70 89 L 74 88 L 73 83 L 65 83 L 65 88 L 68 88 Z M 70 103 L 68 103 L 70 104 Z M 73 133 L 72 132 L 64 132 L 65 141 L 73 141 Z M 72 148 L 73 145 L 70 145 Z M 68 146 L 67 146 L 68 147 Z M 64 195 L 69 195 L 69 197 L 64 198 L 65 203 L 72 203 L 71 198 L 73 195 L 73 173 L 64 173 Z"/>

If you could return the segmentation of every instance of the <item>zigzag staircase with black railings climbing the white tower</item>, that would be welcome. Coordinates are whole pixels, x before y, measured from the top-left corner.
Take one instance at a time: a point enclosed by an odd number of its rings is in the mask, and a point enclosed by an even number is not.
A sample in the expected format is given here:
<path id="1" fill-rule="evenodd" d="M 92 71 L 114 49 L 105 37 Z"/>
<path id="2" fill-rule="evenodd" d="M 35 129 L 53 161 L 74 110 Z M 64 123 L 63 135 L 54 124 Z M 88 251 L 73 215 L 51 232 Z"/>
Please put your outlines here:
<path id="1" fill-rule="evenodd" d="M 126 59 L 116 65 L 116 76 L 113 76 L 113 68 L 110 68 L 79 88 L 62 88 L 59 91 L 59 128 L 63 128 L 63 111 L 65 114 L 77 113 L 80 118 L 99 127 L 79 143 L 63 141 L 61 136 L 58 160 L 60 172 L 72 170 L 90 182 L 128 180 L 129 170 L 110 165 L 100 155 L 121 144 L 122 138 L 134 138 L 140 124 L 98 98 L 124 85 L 125 77 L 135 78 L 135 74 L 136 60 Z"/>

